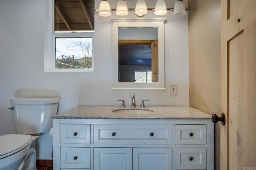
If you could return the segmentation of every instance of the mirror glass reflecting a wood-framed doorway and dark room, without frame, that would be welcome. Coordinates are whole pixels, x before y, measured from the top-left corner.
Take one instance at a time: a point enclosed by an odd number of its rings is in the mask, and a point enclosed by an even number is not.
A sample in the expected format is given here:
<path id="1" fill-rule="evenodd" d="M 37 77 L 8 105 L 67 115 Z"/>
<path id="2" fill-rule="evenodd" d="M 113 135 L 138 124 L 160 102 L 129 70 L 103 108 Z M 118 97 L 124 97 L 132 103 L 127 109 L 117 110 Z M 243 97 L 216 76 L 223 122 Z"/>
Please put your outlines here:
<path id="1" fill-rule="evenodd" d="M 118 82 L 158 82 L 157 27 L 118 28 Z"/>

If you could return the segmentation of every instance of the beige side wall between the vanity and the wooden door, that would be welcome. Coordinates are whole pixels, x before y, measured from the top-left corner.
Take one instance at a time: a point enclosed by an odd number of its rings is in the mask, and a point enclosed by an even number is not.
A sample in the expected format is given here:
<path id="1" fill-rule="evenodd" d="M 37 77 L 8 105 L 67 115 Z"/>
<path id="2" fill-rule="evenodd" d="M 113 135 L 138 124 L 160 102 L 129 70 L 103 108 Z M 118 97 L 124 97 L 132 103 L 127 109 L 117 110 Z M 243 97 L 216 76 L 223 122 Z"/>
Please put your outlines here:
<path id="1" fill-rule="evenodd" d="M 220 0 L 188 1 L 190 106 L 220 114 Z M 215 125 L 215 168 L 220 169 L 220 123 Z"/>

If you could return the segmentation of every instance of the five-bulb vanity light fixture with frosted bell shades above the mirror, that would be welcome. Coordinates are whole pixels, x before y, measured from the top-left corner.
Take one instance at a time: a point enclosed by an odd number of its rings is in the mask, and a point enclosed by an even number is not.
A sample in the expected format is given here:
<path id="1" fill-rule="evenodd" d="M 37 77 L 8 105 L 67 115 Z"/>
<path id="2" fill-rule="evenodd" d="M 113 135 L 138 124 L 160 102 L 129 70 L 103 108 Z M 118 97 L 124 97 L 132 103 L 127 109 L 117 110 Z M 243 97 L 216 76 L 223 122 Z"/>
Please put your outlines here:
<path id="1" fill-rule="evenodd" d="M 174 11 L 174 16 L 183 16 L 188 10 L 185 7 L 183 0 L 177 0 L 174 8 L 166 8 L 166 3 L 164 0 L 157 0 L 155 8 L 147 8 L 145 0 L 137 0 L 135 9 L 127 8 L 125 0 L 118 0 L 116 9 L 110 9 L 110 5 L 107 0 L 102 0 L 100 2 L 100 8 L 94 9 L 94 12 L 99 12 L 100 16 L 108 17 L 111 16 L 111 11 L 116 11 L 118 16 L 128 15 L 128 11 L 135 11 L 135 15 L 138 17 L 143 17 L 148 13 L 148 10 L 154 10 L 154 14 L 157 16 L 162 16 L 167 13 L 168 10 Z"/>

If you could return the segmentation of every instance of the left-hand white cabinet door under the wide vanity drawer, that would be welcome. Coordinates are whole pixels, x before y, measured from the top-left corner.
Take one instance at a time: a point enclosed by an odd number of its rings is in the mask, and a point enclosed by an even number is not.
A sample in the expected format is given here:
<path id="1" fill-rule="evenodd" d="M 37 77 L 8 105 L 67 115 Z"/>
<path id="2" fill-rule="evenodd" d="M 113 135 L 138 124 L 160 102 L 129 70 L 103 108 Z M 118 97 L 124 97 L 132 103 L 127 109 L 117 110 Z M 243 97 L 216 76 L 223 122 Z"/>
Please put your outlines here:
<path id="1" fill-rule="evenodd" d="M 94 170 L 132 170 L 132 148 L 94 148 Z"/>

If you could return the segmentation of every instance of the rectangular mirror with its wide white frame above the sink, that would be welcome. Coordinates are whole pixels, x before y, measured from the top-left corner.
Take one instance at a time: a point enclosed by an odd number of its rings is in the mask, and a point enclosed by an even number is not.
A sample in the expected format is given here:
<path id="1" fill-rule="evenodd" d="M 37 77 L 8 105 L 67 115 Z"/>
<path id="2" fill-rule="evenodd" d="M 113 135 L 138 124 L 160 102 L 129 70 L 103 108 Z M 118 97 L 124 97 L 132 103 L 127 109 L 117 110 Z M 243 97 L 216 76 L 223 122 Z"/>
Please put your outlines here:
<path id="1" fill-rule="evenodd" d="M 112 20 L 112 89 L 165 89 L 164 21 Z"/>

